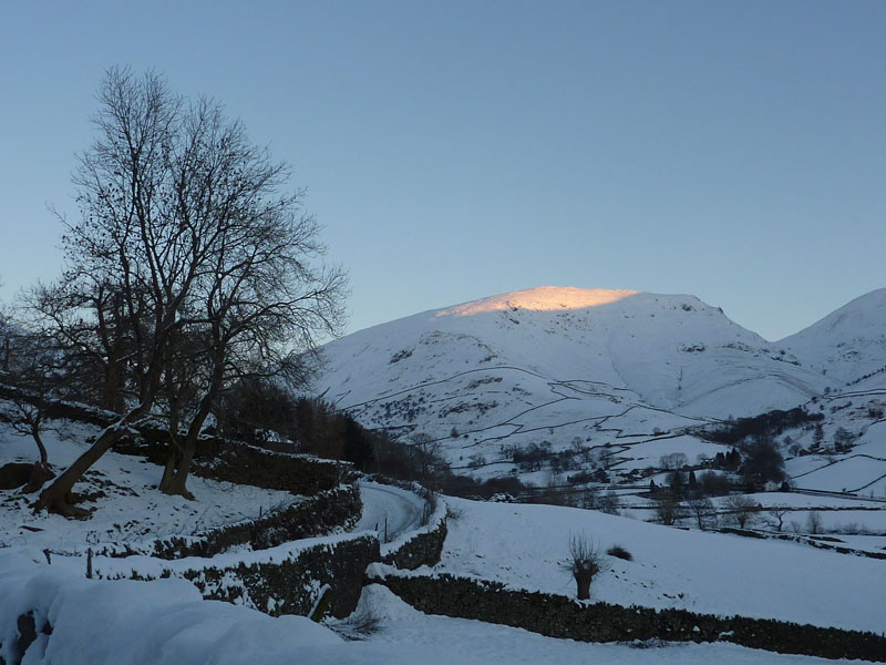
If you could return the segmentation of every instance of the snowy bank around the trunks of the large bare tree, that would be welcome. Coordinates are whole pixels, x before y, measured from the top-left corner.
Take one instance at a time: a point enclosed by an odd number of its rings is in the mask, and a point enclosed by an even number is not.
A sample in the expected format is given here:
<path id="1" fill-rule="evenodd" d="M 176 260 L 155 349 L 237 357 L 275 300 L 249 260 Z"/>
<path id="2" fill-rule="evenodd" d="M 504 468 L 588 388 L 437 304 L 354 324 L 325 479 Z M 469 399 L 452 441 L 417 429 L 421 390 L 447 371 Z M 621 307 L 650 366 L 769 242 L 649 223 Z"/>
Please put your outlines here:
<path id="1" fill-rule="evenodd" d="M 65 469 L 86 448 L 86 438 L 96 428 L 62 423 L 59 431 L 45 432 L 43 439 L 49 461 Z M 9 461 L 33 462 L 37 446 L 29 437 L 14 434 L 0 423 L 0 464 Z M 87 521 L 68 520 L 47 511 L 34 513 L 30 504 L 35 495 L 19 490 L 0 490 L 0 548 L 37 546 L 56 553 L 101 550 L 104 545 L 150 544 L 172 535 L 187 536 L 245 519 L 256 518 L 301 498 L 289 492 L 262 490 L 250 485 L 217 482 L 192 475 L 188 489 L 196 497 L 167 497 L 156 488 L 163 469 L 135 457 L 107 452 L 74 491 L 95 494 L 81 503 L 94 509 Z"/>

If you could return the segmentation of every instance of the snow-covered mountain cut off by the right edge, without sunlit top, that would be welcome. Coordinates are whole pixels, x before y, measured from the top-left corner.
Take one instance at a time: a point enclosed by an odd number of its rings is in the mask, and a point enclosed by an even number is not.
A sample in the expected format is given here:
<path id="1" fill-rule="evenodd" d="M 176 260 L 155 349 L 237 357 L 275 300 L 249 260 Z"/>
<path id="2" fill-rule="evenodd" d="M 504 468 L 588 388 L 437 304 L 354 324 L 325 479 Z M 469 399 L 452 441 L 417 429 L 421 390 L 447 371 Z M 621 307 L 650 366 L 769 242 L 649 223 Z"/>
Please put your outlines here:
<path id="1" fill-rule="evenodd" d="M 862 381 L 883 386 L 886 383 L 886 288 L 855 298 L 779 345 L 805 365 L 825 371 L 835 388 Z"/>

